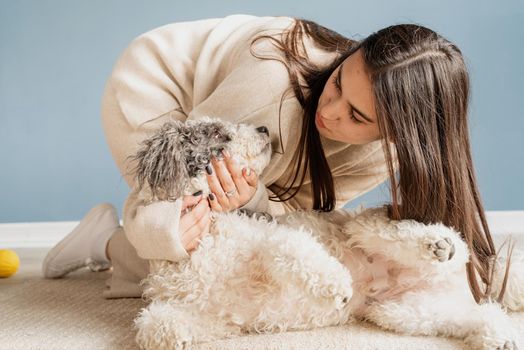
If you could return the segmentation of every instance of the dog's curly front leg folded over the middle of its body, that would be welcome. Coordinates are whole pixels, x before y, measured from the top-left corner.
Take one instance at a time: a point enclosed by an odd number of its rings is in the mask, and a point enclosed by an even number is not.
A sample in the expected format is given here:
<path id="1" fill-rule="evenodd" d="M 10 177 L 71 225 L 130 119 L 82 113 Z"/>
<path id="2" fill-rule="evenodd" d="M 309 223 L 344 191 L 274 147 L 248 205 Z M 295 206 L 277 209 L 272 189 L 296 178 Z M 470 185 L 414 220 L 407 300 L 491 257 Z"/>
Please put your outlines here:
<path id="1" fill-rule="evenodd" d="M 304 228 L 276 226 L 260 253 L 274 279 L 283 285 L 300 283 L 316 298 L 329 298 L 341 309 L 353 294 L 349 270 Z"/>

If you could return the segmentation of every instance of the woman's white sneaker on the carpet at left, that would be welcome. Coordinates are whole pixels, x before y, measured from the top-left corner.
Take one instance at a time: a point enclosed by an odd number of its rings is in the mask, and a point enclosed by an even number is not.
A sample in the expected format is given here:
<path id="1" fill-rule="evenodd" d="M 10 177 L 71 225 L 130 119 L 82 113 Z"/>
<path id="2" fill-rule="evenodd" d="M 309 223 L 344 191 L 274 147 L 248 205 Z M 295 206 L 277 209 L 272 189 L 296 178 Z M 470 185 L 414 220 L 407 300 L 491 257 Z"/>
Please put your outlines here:
<path id="1" fill-rule="evenodd" d="M 103 271 L 111 267 L 105 249 L 120 225 L 116 209 L 109 203 L 93 207 L 64 239 L 47 253 L 42 263 L 45 278 L 63 277 L 81 267 Z"/>

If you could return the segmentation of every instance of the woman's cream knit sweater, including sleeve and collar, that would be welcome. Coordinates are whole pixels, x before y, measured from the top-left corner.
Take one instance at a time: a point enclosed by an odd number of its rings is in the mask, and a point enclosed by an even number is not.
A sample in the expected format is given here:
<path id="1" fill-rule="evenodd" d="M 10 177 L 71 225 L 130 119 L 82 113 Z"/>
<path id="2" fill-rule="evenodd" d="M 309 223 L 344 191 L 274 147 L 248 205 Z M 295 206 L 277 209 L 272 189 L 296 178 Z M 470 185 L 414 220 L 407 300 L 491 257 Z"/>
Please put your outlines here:
<path id="1" fill-rule="evenodd" d="M 288 72 L 278 61 L 254 57 L 250 43 L 261 31 L 279 34 L 293 21 L 231 15 L 169 24 L 133 40 L 109 78 L 127 122 L 136 130 L 146 122 L 160 126 L 169 118 L 183 121 L 205 115 L 267 126 L 273 155 L 255 196 L 244 207 L 272 215 L 312 207 L 309 174 L 293 199 L 268 200 L 290 175 L 303 111 L 288 93 L 279 120 L 280 99 L 290 86 Z M 336 58 L 308 39 L 312 62 L 327 66 Z M 259 41 L 255 51 L 281 57 L 267 40 Z M 322 138 L 322 143 L 335 181 L 337 208 L 387 179 L 380 141 L 350 145 Z M 181 205 L 180 199 L 147 205 L 132 189 L 124 204 L 124 230 L 140 257 L 176 262 L 189 256 L 178 233 Z"/>

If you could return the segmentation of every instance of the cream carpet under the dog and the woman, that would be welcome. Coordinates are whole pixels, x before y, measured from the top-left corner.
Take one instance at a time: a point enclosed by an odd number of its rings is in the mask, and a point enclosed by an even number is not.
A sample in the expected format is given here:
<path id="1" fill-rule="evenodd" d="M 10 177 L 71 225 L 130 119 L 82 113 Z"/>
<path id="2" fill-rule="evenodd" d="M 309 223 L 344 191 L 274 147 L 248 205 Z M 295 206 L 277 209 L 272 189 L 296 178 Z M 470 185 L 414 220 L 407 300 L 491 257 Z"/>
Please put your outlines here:
<path id="1" fill-rule="evenodd" d="M 138 298 L 104 299 L 110 271 L 81 269 L 46 280 L 40 265 L 47 249 L 14 249 L 20 270 L 0 279 L 0 349 L 137 349 L 133 318 L 145 303 Z M 524 332 L 524 313 L 511 316 Z M 463 349 L 462 342 L 384 332 L 373 325 L 252 335 L 194 346 L 218 349 Z"/>

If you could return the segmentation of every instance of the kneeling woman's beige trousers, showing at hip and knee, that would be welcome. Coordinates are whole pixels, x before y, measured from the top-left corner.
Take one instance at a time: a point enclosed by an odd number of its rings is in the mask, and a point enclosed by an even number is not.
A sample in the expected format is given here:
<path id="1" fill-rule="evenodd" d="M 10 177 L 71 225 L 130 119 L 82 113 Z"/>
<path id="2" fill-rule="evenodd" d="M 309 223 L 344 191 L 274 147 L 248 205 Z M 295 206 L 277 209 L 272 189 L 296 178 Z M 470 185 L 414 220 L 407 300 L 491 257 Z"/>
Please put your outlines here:
<path id="1" fill-rule="evenodd" d="M 132 127 L 122 113 L 110 83 L 106 85 L 101 109 L 106 142 L 120 174 L 132 188 L 134 178 L 130 174 L 126 158 L 136 152 L 140 141 L 148 135 L 148 132 L 159 127 L 172 116 L 155 118 L 145 127 Z M 119 227 L 111 236 L 108 252 L 113 265 L 113 273 L 106 281 L 109 289 L 103 292 L 104 297 L 107 299 L 141 297 L 142 287 L 139 283 L 149 273 L 149 262 L 137 255 L 136 249 L 126 238 L 122 227 Z"/>

